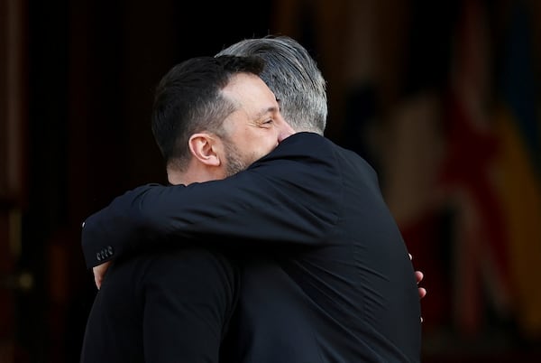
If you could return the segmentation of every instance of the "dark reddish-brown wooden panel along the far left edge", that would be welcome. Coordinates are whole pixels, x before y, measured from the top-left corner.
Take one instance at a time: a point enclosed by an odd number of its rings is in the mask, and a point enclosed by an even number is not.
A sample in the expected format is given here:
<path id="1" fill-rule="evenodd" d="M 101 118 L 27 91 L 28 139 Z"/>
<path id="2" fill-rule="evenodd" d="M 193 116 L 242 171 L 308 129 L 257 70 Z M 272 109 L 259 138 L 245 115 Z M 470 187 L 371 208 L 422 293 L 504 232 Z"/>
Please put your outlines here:
<path id="1" fill-rule="evenodd" d="M 24 0 L 0 2 L 0 362 L 27 362 L 17 341 L 16 291 L 23 275 L 16 271 L 21 254 L 21 215 L 26 204 L 24 176 L 24 104 L 26 55 Z"/>

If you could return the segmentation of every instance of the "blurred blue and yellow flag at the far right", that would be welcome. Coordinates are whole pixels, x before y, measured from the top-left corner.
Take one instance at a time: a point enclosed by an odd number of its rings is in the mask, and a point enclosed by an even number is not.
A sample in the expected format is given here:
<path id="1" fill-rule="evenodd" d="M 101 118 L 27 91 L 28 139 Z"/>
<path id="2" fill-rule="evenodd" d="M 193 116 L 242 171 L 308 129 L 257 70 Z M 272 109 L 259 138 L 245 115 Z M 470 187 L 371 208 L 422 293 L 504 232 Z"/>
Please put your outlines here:
<path id="1" fill-rule="evenodd" d="M 541 131 L 528 10 L 513 3 L 502 50 L 499 107 L 500 196 L 509 231 L 509 259 L 519 324 L 541 336 Z"/>

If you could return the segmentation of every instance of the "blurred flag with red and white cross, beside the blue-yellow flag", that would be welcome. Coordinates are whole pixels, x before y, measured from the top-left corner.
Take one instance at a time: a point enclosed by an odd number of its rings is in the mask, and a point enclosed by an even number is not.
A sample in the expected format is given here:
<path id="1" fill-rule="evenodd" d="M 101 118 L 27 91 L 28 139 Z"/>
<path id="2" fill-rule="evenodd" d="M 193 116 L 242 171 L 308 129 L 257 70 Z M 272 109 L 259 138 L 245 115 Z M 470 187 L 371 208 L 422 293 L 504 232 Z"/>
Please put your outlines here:
<path id="1" fill-rule="evenodd" d="M 509 312 L 507 220 L 494 179 L 499 143 L 491 126 L 490 37 L 478 0 L 463 1 L 447 97 L 441 187 L 453 210 L 454 323 L 480 332 L 486 303 Z"/>

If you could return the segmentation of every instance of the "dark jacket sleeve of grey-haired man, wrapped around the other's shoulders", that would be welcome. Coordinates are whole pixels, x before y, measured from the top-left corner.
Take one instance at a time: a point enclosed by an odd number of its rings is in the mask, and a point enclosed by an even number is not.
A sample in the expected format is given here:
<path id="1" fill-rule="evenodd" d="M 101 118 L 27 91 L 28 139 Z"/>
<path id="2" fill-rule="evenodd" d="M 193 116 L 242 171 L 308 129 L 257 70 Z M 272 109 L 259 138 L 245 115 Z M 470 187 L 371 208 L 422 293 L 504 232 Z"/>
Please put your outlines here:
<path id="1" fill-rule="evenodd" d="M 317 245 L 338 218 L 343 188 L 331 142 L 291 135 L 247 170 L 188 186 L 127 191 L 84 224 L 87 266 L 158 241 L 212 238 L 239 243 Z"/>

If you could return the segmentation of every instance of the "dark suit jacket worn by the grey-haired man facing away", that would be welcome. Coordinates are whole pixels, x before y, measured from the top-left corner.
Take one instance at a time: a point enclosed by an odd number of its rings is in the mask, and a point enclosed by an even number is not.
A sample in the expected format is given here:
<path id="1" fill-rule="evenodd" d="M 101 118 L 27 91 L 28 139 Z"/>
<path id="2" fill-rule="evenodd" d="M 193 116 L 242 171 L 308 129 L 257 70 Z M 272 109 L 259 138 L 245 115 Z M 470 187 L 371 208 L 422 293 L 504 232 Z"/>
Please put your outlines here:
<path id="1" fill-rule="evenodd" d="M 320 135 L 292 135 L 224 181 L 126 192 L 87 219 L 87 265 L 157 236 L 260 256 L 243 274 L 244 362 L 420 360 L 414 269 L 377 175 Z"/>

